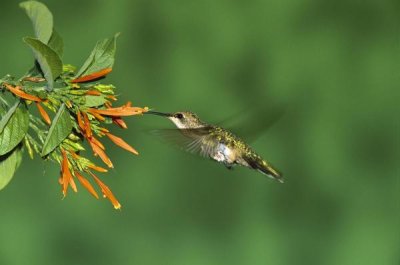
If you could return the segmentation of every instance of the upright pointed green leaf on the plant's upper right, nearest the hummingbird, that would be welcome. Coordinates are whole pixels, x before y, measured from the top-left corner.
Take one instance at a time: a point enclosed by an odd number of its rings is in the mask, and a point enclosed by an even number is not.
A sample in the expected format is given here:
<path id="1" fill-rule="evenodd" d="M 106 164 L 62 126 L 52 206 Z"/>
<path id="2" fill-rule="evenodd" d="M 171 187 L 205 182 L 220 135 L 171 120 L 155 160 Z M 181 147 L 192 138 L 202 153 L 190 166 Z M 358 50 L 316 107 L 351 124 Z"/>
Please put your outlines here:
<path id="1" fill-rule="evenodd" d="M 114 37 L 110 39 L 98 41 L 75 78 L 98 72 L 104 68 L 112 68 L 114 65 L 118 36 L 119 33 L 115 34 Z"/>

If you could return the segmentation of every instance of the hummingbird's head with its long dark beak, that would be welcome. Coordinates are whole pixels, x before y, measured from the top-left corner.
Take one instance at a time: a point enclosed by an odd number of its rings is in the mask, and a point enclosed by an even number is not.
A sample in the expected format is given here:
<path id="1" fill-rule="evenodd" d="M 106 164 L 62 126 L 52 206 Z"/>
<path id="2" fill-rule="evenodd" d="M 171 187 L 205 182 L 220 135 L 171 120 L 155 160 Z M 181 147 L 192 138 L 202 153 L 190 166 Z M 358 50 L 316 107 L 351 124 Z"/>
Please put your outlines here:
<path id="1" fill-rule="evenodd" d="M 196 129 L 206 126 L 206 124 L 202 122 L 196 114 L 188 111 L 175 113 L 148 111 L 147 113 L 167 117 L 176 127 L 178 127 L 178 129 Z"/>

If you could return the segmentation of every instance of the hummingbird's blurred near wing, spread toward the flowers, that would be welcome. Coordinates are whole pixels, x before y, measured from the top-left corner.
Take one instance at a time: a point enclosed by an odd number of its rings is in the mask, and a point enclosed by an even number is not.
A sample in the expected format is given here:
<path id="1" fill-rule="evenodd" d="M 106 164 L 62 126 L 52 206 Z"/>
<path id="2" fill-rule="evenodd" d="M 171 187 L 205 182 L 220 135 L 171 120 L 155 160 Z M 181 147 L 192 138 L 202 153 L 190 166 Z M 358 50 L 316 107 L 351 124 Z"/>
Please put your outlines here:
<path id="1" fill-rule="evenodd" d="M 151 134 L 186 152 L 208 157 L 216 146 L 209 133 L 210 127 L 198 129 L 160 129 Z"/>

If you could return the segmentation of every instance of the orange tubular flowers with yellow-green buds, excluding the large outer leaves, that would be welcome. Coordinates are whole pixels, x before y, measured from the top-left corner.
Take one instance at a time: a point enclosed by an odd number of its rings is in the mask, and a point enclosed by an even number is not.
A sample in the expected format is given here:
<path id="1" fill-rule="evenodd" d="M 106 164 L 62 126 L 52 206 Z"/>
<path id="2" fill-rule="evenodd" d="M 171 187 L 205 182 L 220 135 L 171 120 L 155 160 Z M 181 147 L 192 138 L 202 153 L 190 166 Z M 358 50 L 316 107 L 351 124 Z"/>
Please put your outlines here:
<path id="1" fill-rule="evenodd" d="M 97 82 L 109 72 L 111 69 L 105 69 L 88 76 L 73 78 L 74 68 L 66 65 L 60 76 L 60 82 L 63 83 L 62 89 L 45 91 L 46 87 L 42 84 L 44 80 L 40 77 L 25 77 L 19 84 L 6 81 L 0 87 L 11 92 L 27 106 L 35 104 L 42 118 L 42 121 L 39 121 L 30 115 L 30 127 L 37 135 L 34 137 L 28 132 L 24 145 L 31 157 L 34 152 L 43 154 L 42 150 L 51 128 L 54 127 L 54 130 L 57 131 L 64 130 L 62 124 L 68 121 L 62 121 L 56 117 L 52 121 L 48 111 L 58 114 L 65 105 L 64 109 L 67 111 L 65 117 L 72 124 L 72 129 L 49 154 L 44 156 L 60 164 L 59 183 L 64 197 L 67 195 L 69 187 L 73 191 L 77 191 L 75 183 L 77 180 L 95 198 L 99 198 L 95 188 L 85 177 L 86 175 L 100 187 L 103 196 L 111 201 L 114 208 L 119 209 L 121 204 L 111 190 L 93 173 L 94 171 L 104 173 L 107 172 L 107 169 L 81 155 L 85 151 L 82 143 L 86 140 L 93 154 L 98 156 L 108 168 L 113 168 L 113 164 L 105 152 L 105 146 L 100 141 L 102 137 L 107 137 L 111 142 L 132 154 L 137 155 L 138 152 L 122 138 L 112 134 L 106 125 L 114 123 L 120 128 L 126 129 L 127 125 L 123 117 L 143 114 L 148 111 L 148 108 L 134 107 L 130 102 L 114 107 L 113 104 L 117 101 L 114 94 L 115 87 Z M 50 129 L 48 129 L 49 126 Z M 47 135 L 44 135 L 44 131 L 48 131 Z"/>

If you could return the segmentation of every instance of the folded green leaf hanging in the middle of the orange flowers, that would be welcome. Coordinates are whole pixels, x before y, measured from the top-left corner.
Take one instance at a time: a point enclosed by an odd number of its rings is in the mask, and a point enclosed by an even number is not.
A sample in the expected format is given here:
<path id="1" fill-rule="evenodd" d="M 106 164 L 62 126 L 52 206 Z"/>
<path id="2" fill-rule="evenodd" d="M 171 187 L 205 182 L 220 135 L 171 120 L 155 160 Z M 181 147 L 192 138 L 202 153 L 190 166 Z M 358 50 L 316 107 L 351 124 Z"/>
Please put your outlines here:
<path id="1" fill-rule="evenodd" d="M 65 104 L 62 104 L 51 123 L 49 133 L 43 144 L 41 156 L 44 157 L 52 152 L 65 138 L 67 138 L 71 131 L 71 118 Z"/>

